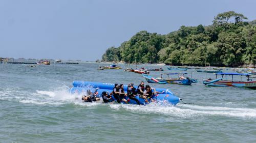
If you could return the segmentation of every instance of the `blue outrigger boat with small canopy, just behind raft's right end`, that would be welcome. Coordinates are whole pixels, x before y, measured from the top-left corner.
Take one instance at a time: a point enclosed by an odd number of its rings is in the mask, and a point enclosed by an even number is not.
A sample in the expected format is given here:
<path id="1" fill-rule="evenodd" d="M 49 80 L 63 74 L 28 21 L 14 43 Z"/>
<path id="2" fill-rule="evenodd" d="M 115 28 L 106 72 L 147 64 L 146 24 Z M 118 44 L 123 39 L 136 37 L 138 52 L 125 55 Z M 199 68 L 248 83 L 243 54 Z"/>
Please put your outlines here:
<path id="1" fill-rule="evenodd" d="M 197 79 L 190 79 L 189 77 L 184 77 L 187 73 L 163 73 L 160 78 L 154 78 L 150 75 L 143 74 L 146 81 L 149 83 L 160 83 L 160 84 L 184 84 L 191 85 L 191 83 L 197 82 Z M 163 75 L 167 75 L 167 78 L 163 78 Z M 178 75 L 178 78 L 170 78 L 169 75 Z"/>

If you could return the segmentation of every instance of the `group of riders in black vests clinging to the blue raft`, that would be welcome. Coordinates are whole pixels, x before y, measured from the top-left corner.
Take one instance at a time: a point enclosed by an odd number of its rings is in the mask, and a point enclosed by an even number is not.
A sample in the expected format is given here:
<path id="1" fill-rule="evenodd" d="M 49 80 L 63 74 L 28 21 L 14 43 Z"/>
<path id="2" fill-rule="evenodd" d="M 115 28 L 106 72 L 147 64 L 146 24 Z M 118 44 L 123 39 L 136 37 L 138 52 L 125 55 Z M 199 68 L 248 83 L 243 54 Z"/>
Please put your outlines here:
<path id="1" fill-rule="evenodd" d="M 146 85 L 144 87 L 144 82 L 140 82 L 138 88 L 136 89 L 133 83 L 128 84 L 127 86 L 127 93 L 124 92 L 123 84 L 118 85 L 115 84 L 115 87 L 113 88 L 113 91 L 111 93 L 103 91 L 101 93 L 102 99 L 104 103 L 112 103 L 115 102 L 113 97 L 116 99 L 117 103 L 121 103 L 122 101 L 125 103 L 130 102 L 130 99 L 136 101 L 138 105 L 140 105 L 139 100 L 136 98 L 136 96 L 139 96 L 140 98 L 144 99 L 146 103 L 148 101 L 154 102 L 155 100 L 152 98 L 154 95 L 159 94 L 160 92 L 157 92 L 154 88 L 151 88 L 150 85 Z M 94 93 L 92 93 L 90 90 L 87 90 L 87 94 L 82 96 L 82 100 L 84 102 L 93 102 L 93 101 L 99 101 L 100 98 L 97 97 L 98 90 L 97 88 Z M 164 91 L 163 91 L 164 92 Z M 162 92 L 162 93 L 163 93 Z M 129 98 L 127 98 L 129 97 Z"/>

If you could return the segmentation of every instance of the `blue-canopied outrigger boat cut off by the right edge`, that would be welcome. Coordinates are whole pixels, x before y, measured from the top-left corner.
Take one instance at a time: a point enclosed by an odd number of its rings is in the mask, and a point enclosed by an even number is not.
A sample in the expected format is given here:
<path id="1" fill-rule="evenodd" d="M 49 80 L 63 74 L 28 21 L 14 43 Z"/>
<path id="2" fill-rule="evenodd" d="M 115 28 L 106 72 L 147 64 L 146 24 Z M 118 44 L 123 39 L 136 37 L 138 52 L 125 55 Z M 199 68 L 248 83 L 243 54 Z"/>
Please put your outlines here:
<path id="1" fill-rule="evenodd" d="M 222 75 L 221 78 L 217 78 L 218 75 Z M 225 75 L 225 80 L 223 79 Z M 231 75 L 231 80 L 227 80 L 227 75 Z M 239 75 L 241 76 L 241 81 L 233 81 L 233 76 Z M 247 81 L 242 81 L 242 76 L 247 77 Z M 214 87 L 244 87 L 244 88 L 251 88 L 256 89 L 256 81 L 252 81 L 250 75 L 247 73 L 216 73 L 216 79 L 207 79 L 204 80 L 203 83 L 208 86 Z"/>

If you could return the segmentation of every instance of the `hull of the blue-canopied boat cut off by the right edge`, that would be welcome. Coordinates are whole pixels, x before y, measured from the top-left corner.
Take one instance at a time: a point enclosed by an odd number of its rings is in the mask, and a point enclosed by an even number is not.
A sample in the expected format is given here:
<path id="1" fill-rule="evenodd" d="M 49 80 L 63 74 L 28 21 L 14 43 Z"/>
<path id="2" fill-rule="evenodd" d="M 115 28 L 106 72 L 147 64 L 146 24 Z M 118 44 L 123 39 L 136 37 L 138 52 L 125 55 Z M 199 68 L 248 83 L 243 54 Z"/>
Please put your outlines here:
<path id="1" fill-rule="evenodd" d="M 256 81 L 204 80 L 204 84 L 212 87 L 240 87 L 256 89 Z M 208 82 L 208 83 L 207 83 Z"/>

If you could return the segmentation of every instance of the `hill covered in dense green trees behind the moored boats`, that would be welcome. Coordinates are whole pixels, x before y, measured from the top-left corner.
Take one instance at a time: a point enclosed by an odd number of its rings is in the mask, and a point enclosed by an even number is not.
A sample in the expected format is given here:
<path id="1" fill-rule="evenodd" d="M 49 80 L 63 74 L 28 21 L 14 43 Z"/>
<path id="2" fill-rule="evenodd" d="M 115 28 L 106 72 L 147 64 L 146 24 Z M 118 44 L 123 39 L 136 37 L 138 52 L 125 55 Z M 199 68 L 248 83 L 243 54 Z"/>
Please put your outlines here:
<path id="1" fill-rule="evenodd" d="M 181 26 L 167 35 L 138 32 L 119 47 L 110 47 L 102 61 L 174 65 L 252 65 L 256 59 L 255 20 L 233 11 L 214 17 L 209 26 Z"/>

